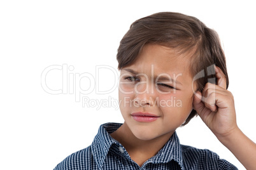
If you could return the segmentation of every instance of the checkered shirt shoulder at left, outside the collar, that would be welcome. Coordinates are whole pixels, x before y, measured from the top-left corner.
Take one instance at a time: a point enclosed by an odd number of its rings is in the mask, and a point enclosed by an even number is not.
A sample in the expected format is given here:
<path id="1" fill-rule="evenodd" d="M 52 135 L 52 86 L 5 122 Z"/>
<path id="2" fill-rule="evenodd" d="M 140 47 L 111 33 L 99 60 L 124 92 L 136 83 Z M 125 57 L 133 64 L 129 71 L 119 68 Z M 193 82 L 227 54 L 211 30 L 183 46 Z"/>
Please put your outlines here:
<path id="1" fill-rule="evenodd" d="M 95 169 L 95 166 L 92 150 L 87 147 L 66 157 L 53 170 Z"/>

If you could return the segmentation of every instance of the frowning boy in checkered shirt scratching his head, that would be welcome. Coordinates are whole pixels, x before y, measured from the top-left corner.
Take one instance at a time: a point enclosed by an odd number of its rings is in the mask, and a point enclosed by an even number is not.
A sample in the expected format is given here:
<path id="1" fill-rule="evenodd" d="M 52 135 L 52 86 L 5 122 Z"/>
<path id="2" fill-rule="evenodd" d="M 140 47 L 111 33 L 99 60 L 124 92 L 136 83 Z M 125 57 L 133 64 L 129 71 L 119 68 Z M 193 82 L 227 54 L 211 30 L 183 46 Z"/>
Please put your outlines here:
<path id="1" fill-rule="evenodd" d="M 213 30 L 192 16 L 155 13 L 132 23 L 117 60 L 124 124 L 103 124 L 90 147 L 56 170 L 237 169 L 210 150 L 180 145 L 176 128 L 196 114 L 246 169 L 256 169 L 256 145 L 236 124 L 225 56 Z M 213 75 L 211 82 L 204 75 Z"/>

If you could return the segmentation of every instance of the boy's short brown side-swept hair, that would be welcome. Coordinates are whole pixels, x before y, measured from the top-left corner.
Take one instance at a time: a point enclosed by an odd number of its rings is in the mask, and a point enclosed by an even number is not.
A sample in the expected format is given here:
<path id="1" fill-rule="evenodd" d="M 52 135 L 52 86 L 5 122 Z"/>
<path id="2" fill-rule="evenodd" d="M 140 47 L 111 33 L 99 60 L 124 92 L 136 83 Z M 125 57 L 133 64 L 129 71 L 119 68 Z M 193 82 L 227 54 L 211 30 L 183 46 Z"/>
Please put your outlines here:
<path id="1" fill-rule="evenodd" d="M 149 43 L 176 49 L 180 54 L 188 54 L 191 58 L 189 68 L 192 77 L 203 70 L 204 75 L 210 75 L 211 72 L 212 78 L 215 78 L 215 70 L 209 68 L 214 68 L 212 65 L 220 67 L 227 79 L 227 87 L 229 86 L 225 55 L 218 34 L 194 16 L 161 12 L 136 20 L 120 41 L 117 53 L 118 70 L 134 62 L 143 46 Z M 197 90 L 203 91 L 208 79 L 208 76 L 199 77 L 196 80 Z M 196 110 L 192 110 L 183 125 L 195 115 Z"/>

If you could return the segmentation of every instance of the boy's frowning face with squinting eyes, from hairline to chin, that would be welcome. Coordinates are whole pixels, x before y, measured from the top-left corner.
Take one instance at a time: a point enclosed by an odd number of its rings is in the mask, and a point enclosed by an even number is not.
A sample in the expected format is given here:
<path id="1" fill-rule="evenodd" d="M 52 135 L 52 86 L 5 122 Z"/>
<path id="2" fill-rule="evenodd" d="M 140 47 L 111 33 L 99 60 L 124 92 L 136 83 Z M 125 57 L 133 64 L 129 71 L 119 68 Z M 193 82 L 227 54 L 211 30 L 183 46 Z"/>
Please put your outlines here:
<path id="1" fill-rule="evenodd" d="M 162 77 L 173 81 L 161 80 Z M 134 136 L 141 140 L 173 134 L 192 111 L 193 95 L 187 62 L 174 56 L 170 48 L 147 44 L 132 65 L 120 70 L 120 111 Z M 136 112 L 156 117 L 132 115 Z"/>

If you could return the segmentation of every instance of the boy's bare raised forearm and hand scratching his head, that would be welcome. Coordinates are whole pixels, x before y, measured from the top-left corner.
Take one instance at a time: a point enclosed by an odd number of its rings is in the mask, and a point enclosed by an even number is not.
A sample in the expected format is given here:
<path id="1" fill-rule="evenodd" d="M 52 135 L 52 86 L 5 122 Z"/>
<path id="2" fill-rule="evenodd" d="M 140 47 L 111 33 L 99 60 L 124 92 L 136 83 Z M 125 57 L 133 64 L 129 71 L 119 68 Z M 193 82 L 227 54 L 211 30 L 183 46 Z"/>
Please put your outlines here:
<path id="1" fill-rule="evenodd" d="M 226 89 L 222 70 L 215 68 L 217 85 L 207 83 L 194 95 L 193 107 L 204 123 L 246 169 L 256 169 L 256 144 L 236 124 L 234 98 Z"/>

